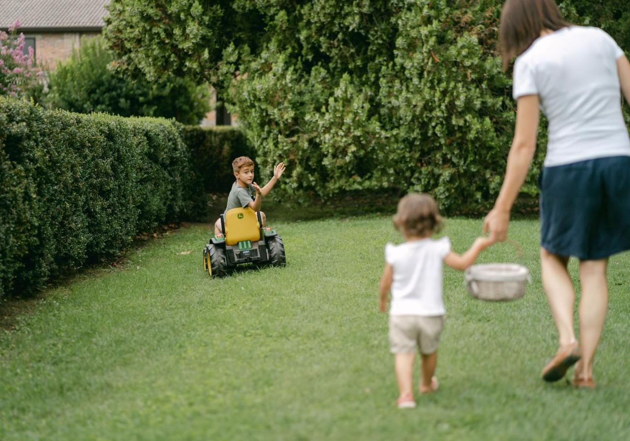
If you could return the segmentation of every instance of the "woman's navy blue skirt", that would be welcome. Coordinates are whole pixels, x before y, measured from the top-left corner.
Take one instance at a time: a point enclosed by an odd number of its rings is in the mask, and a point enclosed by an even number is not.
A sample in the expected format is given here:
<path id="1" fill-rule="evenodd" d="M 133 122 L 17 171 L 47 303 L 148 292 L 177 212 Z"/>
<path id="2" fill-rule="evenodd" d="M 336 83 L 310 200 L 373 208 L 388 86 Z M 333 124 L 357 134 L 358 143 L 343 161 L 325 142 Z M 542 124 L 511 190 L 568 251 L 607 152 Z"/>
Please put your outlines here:
<path id="1" fill-rule="evenodd" d="M 630 156 L 543 167 L 541 246 L 597 260 L 630 249 Z"/>

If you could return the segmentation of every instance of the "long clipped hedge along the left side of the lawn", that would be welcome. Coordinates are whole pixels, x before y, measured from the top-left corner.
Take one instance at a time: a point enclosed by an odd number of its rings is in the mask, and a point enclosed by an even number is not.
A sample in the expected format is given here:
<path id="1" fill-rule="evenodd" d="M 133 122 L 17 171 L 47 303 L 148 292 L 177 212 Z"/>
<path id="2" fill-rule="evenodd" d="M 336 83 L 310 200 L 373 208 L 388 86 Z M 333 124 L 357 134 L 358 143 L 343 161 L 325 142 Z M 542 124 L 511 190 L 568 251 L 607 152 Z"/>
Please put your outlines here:
<path id="1" fill-rule="evenodd" d="M 0 295 L 117 255 L 190 212 L 181 125 L 0 99 Z"/>

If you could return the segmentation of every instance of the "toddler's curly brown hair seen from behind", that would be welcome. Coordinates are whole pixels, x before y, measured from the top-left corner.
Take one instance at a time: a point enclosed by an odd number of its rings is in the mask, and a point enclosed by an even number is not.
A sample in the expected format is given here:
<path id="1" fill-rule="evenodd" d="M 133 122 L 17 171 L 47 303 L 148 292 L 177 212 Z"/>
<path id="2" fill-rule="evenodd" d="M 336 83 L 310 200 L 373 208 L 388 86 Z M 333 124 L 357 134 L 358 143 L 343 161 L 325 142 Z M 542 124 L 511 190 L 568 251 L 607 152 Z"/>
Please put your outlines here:
<path id="1" fill-rule="evenodd" d="M 410 193 L 398 202 L 394 227 L 408 236 L 430 236 L 440 232 L 444 221 L 435 200 L 425 193 Z"/>

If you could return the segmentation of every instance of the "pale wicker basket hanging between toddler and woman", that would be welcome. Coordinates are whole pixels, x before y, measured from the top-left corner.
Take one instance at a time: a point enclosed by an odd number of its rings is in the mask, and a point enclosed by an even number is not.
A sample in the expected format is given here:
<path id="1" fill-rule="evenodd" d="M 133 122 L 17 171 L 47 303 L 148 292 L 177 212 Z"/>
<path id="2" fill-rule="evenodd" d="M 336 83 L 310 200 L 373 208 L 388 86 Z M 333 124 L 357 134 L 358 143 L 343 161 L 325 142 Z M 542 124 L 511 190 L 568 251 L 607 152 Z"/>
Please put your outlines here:
<path id="1" fill-rule="evenodd" d="M 481 300 L 516 300 L 525 294 L 525 282 L 532 282 L 525 266 L 513 263 L 473 265 L 464 272 L 468 292 Z"/>

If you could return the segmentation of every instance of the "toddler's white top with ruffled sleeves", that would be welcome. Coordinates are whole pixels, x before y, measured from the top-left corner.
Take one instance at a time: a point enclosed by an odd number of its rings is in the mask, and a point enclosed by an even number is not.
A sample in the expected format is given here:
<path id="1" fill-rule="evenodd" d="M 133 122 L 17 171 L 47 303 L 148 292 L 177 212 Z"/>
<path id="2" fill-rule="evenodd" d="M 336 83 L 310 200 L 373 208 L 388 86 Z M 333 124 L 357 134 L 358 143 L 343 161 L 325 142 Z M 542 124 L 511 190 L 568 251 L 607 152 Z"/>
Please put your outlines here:
<path id="1" fill-rule="evenodd" d="M 450 251 L 449 238 L 421 239 L 385 246 L 385 261 L 394 270 L 389 314 L 443 316 L 442 263 Z"/>

